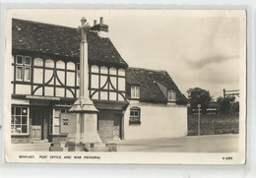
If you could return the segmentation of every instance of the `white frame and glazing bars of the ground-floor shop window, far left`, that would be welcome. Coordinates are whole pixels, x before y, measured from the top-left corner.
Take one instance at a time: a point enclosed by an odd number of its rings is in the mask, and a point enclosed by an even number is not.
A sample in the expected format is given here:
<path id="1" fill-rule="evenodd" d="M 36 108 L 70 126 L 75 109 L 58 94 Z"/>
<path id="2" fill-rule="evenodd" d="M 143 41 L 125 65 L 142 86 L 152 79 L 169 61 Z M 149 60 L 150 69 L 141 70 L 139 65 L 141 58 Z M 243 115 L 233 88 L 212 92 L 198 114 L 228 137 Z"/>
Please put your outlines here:
<path id="1" fill-rule="evenodd" d="M 11 107 L 12 107 L 11 108 L 11 135 L 12 136 L 28 136 L 30 134 L 30 107 L 27 106 L 27 105 L 12 105 Z M 15 108 L 14 114 L 12 112 L 13 107 Z M 21 114 L 20 115 L 16 114 L 16 108 L 20 108 L 21 109 Z M 23 117 L 24 117 L 24 115 L 22 114 L 22 109 L 23 108 L 27 108 L 27 124 L 23 124 Z M 21 117 L 21 123 L 15 124 L 15 116 L 20 116 Z M 14 119 L 13 120 L 13 124 L 12 124 L 12 118 Z M 12 126 L 14 126 L 14 128 L 15 128 L 16 125 L 20 125 L 21 126 L 21 133 L 13 133 L 12 132 Z M 24 125 L 27 126 L 27 133 L 22 133 L 22 127 Z"/>

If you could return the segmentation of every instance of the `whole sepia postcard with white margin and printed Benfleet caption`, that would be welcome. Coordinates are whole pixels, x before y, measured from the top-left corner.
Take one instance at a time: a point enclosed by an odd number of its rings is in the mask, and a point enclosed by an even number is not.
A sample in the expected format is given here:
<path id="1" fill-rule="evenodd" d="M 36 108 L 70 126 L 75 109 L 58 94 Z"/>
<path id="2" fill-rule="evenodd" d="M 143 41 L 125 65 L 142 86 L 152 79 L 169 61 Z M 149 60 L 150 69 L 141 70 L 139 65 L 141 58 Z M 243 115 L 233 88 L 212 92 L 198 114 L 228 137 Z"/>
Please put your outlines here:
<path id="1" fill-rule="evenodd" d="M 7 9 L 6 162 L 244 164 L 246 11 Z"/>

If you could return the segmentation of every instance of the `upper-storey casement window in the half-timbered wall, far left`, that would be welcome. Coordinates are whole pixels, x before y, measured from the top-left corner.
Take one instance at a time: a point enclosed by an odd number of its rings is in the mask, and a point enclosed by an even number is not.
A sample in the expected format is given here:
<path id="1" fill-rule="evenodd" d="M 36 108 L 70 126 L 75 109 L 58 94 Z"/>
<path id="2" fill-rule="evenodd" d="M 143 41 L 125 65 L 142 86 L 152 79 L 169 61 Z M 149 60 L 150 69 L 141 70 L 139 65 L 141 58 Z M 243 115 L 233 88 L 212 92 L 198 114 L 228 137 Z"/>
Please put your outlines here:
<path id="1" fill-rule="evenodd" d="M 30 56 L 16 56 L 16 80 L 17 81 L 31 81 L 32 72 L 32 57 Z"/>

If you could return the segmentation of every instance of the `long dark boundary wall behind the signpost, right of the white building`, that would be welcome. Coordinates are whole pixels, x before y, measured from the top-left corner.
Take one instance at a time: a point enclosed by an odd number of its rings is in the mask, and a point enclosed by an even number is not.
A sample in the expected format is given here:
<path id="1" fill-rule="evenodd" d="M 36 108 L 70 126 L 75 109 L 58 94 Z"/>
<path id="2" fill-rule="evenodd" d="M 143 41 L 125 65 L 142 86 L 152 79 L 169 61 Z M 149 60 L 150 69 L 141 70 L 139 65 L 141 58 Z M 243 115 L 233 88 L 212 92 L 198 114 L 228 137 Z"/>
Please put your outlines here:
<path id="1" fill-rule="evenodd" d="M 238 134 L 239 114 L 201 115 L 200 135 Z M 198 134 L 198 116 L 188 115 L 188 136 Z"/>

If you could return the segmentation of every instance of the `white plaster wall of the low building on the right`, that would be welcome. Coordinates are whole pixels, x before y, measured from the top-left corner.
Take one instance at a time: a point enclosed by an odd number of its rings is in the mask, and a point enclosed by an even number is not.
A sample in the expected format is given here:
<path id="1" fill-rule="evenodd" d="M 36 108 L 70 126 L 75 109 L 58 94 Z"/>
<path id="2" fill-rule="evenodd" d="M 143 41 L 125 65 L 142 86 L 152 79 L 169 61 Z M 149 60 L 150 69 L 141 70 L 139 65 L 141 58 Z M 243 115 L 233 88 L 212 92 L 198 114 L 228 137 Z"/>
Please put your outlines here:
<path id="1" fill-rule="evenodd" d="M 129 125 L 130 108 L 141 108 L 141 125 Z M 124 139 L 174 138 L 187 135 L 187 107 L 133 102 L 124 114 Z"/>

